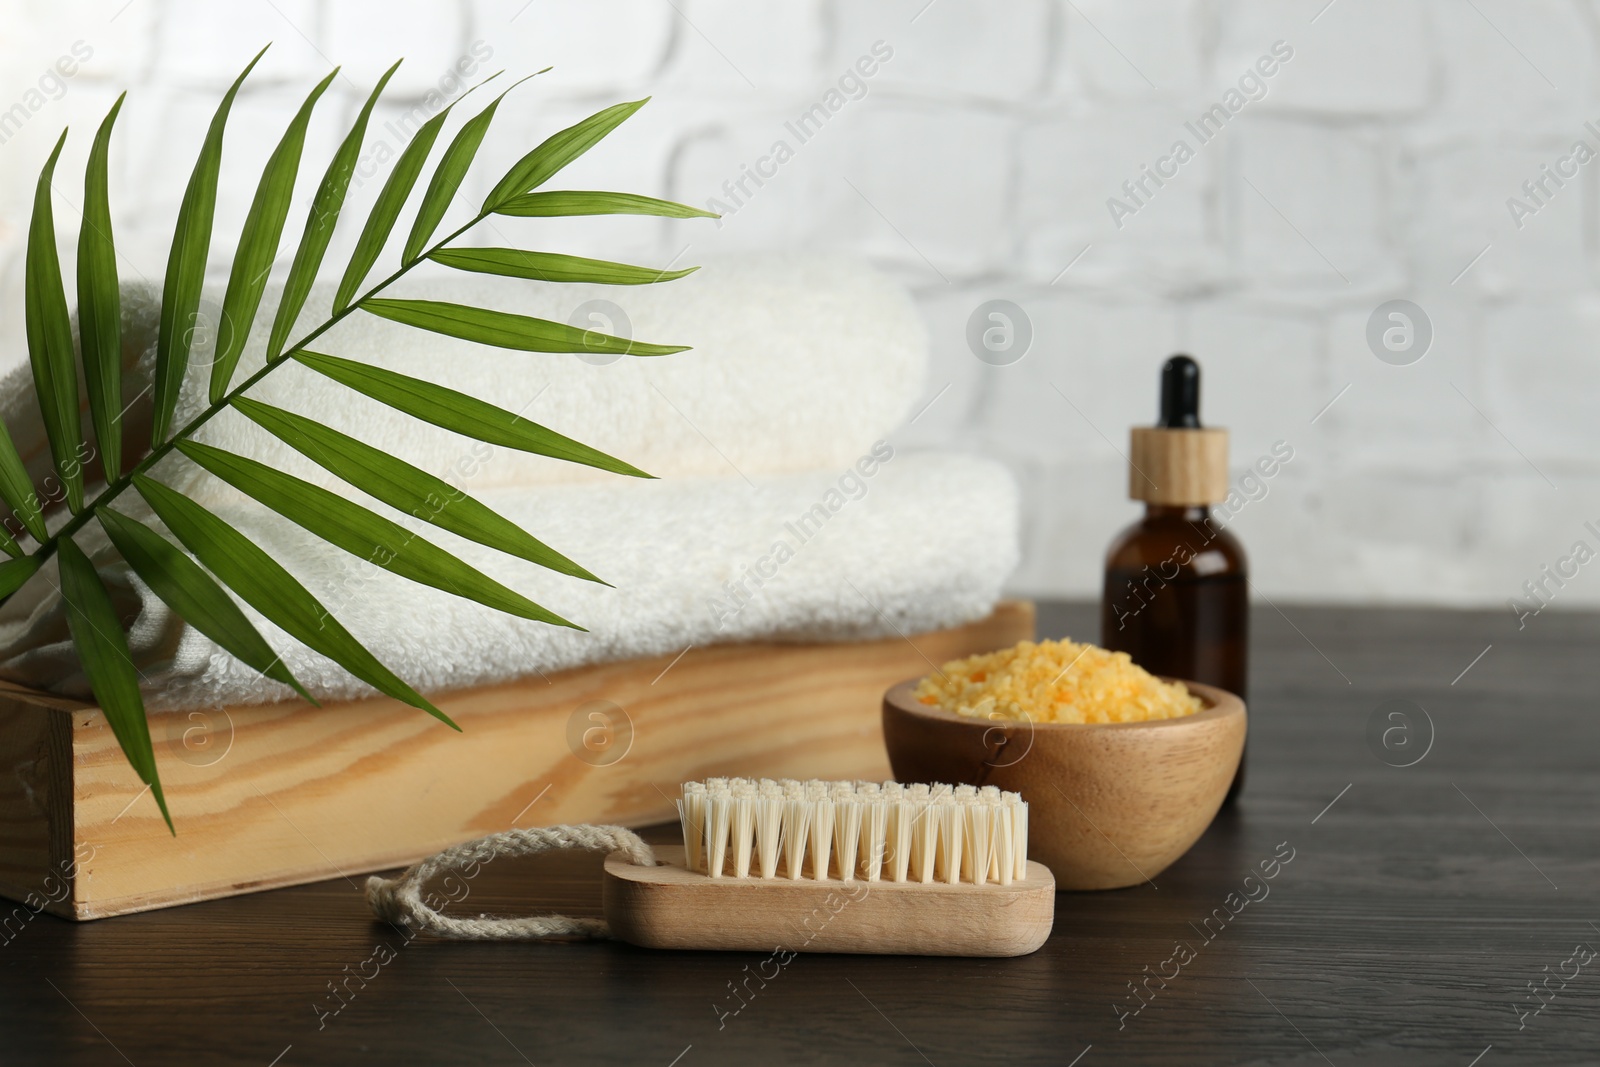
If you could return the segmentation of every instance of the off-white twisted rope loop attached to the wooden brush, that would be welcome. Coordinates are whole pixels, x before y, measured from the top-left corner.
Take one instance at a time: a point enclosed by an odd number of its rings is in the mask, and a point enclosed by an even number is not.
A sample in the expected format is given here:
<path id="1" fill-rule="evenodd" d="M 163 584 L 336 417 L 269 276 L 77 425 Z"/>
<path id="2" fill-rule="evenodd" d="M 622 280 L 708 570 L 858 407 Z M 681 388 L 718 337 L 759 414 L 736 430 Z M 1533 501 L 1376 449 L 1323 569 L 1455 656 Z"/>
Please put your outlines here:
<path id="1" fill-rule="evenodd" d="M 366 902 L 373 915 L 386 923 L 411 926 L 437 937 L 458 941 L 542 941 L 546 937 L 610 937 L 603 918 L 570 915 L 528 915 L 523 918 L 454 918 L 435 910 L 422 899 L 422 886 L 437 875 L 486 864 L 504 856 L 536 853 L 589 851 L 624 853 L 640 867 L 654 867 L 656 854 L 643 838 L 619 825 L 550 825 L 528 830 L 502 830 L 475 841 L 462 841 L 429 856 L 398 878 L 366 880 Z"/>

